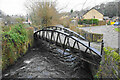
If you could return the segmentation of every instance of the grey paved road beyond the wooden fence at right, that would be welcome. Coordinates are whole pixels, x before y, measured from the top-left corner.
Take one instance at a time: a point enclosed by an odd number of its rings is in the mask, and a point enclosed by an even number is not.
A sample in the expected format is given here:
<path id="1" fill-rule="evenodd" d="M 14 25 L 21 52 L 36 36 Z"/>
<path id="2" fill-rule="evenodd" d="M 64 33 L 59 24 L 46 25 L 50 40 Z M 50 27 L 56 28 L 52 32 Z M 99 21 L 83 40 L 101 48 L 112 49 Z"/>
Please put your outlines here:
<path id="1" fill-rule="evenodd" d="M 118 32 L 115 31 L 118 26 L 105 25 L 105 26 L 93 26 L 93 27 L 83 27 L 83 29 L 92 33 L 103 34 L 103 40 L 105 47 L 118 48 Z"/>

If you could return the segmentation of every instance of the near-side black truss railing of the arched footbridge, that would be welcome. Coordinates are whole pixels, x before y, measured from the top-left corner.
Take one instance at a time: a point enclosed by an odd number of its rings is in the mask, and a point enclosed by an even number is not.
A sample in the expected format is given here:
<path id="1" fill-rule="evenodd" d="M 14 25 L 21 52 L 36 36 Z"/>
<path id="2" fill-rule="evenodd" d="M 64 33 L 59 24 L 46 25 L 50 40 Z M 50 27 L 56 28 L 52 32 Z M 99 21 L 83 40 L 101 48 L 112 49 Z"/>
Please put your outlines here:
<path id="1" fill-rule="evenodd" d="M 39 31 L 35 32 L 34 33 L 34 37 L 36 39 L 48 40 L 48 41 L 54 42 L 56 44 L 57 43 L 62 44 L 63 48 L 65 48 L 65 46 L 67 45 L 68 47 L 72 47 L 72 48 L 76 48 L 77 47 L 78 50 L 81 50 L 80 49 L 80 47 L 81 47 L 80 45 L 82 45 L 83 47 L 86 48 L 84 50 L 85 53 L 89 50 L 90 52 L 93 52 L 96 55 L 98 55 L 99 57 L 101 57 L 103 44 L 101 46 L 101 52 L 99 52 L 99 51 L 97 51 L 96 49 L 94 49 L 94 48 L 92 48 L 90 46 L 90 42 L 87 45 L 87 44 L 81 42 L 81 40 L 76 38 L 75 36 L 63 32 L 62 30 L 64 30 L 64 28 L 59 27 L 59 30 L 56 29 L 58 27 L 50 27 L 50 28 L 52 28 L 52 29 L 48 29 L 48 27 L 47 27 L 46 29 L 44 28 L 42 30 L 39 30 Z M 65 37 L 64 38 L 63 38 L 63 36 L 60 37 L 60 34 L 64 35 Z M 58 39 L 59 39 L 59 41 L 58 41 Z M 71 42 L 70 42 L 70 39 L 72 39 Z M 83 49 L 81 51 L 83 51 Z"/>

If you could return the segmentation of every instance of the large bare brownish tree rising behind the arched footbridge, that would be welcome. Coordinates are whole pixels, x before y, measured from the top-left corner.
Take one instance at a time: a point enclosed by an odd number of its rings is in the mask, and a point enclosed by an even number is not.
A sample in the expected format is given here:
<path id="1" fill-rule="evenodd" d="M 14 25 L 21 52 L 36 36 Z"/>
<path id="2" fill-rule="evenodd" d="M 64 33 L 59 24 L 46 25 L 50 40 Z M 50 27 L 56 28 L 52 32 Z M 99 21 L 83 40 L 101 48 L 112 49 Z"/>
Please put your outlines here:
<path id="1" fill-rule="evenodd" d="M 27 1 L 28 3 L 28 1 Z M 29 17 L 34 25 L 49 26 L 59 24 L 60 15 L 56 10 L 56 2 L 46 0 L 29 0 L 26 6 L 29 10 Z"/>

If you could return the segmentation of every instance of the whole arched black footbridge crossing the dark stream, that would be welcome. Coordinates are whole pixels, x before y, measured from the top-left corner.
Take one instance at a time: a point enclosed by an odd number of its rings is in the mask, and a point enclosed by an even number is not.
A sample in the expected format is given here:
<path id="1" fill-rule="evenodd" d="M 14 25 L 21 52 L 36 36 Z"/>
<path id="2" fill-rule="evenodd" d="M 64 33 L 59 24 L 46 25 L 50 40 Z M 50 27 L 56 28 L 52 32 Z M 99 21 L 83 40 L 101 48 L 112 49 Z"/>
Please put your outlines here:
<path id="1" fill-rule="evenodd" d="M 79 56 L 82 61 L 92 65 L 99 64 L 104 46 L 102 40 L 100 43 L 101 48 L 97 50 L 91 47 L 89 40 L 62 25 L 48 26 L 35 31 L 34 39 L 35 41 L 44 40 L 62 48 L 62 57 L 65 56 L 65 52 L 70 52 L 71 54 Z"/>

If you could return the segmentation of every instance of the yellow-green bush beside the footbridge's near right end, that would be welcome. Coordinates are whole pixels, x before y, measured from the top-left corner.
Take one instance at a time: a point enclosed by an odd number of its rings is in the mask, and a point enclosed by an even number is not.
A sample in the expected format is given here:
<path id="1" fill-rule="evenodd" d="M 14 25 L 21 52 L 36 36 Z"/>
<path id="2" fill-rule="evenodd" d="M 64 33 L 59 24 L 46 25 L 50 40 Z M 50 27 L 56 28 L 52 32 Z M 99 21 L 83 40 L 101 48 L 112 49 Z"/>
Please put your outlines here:
<path id="1" fill-rule="evenodd" d="M 96 78 L 120 77 L 120 55 L 112 48 L 104 48 L 100 68 L 95 75 Z"/>

